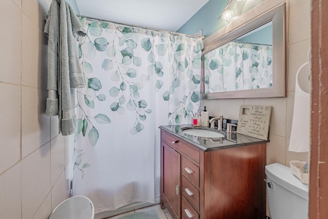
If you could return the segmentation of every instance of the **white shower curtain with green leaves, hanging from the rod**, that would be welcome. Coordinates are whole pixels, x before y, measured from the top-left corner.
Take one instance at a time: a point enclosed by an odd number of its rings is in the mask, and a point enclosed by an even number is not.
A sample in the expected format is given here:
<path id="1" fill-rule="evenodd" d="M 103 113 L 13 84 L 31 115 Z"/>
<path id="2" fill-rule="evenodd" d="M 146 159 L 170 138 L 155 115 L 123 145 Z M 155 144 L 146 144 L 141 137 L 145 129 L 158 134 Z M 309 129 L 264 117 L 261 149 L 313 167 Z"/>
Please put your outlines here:
<path id="1" fill-rule="evenodd" d="M 73 195 L 95 213 L 159 201 L 158 126 L 199 107 L 201 38 L 81 19 Z"/>

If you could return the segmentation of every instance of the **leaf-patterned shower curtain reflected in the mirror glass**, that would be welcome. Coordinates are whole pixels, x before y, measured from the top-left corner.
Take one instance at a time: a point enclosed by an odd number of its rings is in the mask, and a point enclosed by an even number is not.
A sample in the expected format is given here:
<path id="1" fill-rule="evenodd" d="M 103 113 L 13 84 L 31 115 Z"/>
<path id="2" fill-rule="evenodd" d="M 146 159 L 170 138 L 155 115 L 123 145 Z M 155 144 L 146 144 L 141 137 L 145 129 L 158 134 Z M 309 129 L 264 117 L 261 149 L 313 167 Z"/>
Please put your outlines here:
<path id="1" fill-rule="evenodd" d="M 204 54 L 205 92 L 272 87 L 272 46 L 229 42 Z"/>

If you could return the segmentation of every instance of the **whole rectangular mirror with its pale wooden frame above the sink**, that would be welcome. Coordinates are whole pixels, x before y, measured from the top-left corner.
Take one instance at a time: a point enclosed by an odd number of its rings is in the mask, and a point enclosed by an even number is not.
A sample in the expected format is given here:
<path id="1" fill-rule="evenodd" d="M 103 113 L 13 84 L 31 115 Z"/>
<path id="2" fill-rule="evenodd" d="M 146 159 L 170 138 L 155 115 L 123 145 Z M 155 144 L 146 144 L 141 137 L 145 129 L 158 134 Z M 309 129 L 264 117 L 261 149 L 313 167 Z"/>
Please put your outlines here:
<path id="1" fill-rule="evenodd" d="M 202 98 L 285 97 L 285 3 L 207 43 Z"/>

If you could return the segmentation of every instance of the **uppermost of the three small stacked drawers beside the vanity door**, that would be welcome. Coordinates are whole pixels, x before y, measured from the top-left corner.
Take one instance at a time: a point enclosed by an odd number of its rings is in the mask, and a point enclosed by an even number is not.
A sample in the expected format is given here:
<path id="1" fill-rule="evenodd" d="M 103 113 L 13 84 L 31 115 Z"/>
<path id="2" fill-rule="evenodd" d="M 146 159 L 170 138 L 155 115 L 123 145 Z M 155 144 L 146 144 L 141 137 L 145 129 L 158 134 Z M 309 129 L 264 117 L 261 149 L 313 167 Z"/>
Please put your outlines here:
<path id="1" fill-rule="evenodd" d="M 184 156 L 182 156 L 181 172 L 195 187 L 199 188 L 199 167 Z"/>

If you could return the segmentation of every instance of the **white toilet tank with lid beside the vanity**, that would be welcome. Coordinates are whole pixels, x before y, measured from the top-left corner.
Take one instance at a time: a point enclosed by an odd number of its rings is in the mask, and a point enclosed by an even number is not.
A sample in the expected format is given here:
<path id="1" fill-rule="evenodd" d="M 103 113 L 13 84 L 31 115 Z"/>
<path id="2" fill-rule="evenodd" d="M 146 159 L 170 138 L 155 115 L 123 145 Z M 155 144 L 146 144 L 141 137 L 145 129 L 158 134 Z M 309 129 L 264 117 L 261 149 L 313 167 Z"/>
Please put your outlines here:
<path id="1" fill-rule="evenodd" d="M 309 185 L 303 184 L 291 171 L 281 164 L 265 166 L 269 209 L 272 219 L 308 219 Z"/>

